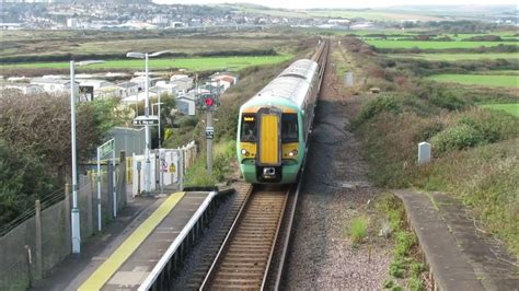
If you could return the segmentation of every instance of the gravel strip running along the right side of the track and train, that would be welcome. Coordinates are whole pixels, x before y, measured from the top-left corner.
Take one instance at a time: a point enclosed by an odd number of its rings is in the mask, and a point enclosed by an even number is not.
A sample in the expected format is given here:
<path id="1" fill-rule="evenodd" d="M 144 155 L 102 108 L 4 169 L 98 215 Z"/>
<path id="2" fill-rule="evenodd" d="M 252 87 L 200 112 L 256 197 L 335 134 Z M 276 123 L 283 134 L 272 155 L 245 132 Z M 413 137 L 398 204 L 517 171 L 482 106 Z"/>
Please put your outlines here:
<path id="1" fill-rule="evenodd" d="M 310 138 L 284 284 L 292 290 L 382 289 L 392 245 L 372 235 L 379 228 L 372 200 L 380 190 L 368 183 L 360 146 L 344 129 L 348 106 L 356 102 L 336 93 L 339 83 L 330 65 Z M 349 221 L 367 212 L 373 230 L 367 242 L 354 246 L 347 233 Z"/>

